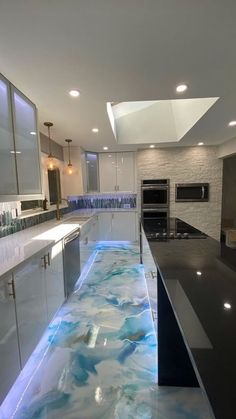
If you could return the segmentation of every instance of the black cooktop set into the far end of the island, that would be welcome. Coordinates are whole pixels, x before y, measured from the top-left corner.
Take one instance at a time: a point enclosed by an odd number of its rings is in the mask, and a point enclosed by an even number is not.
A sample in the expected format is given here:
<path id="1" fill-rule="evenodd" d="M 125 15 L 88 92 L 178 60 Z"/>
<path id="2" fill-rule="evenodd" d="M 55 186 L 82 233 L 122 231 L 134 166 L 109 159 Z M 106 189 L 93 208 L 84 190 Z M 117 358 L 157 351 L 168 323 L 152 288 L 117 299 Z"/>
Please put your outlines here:
<path id="1" fill-rule="evenodd" d="M 182 240 L 204 239 L 207 237 L 202 231 L 190 226 L 179 218 L 145 219 L 143 227 L 149 240 Z"/>

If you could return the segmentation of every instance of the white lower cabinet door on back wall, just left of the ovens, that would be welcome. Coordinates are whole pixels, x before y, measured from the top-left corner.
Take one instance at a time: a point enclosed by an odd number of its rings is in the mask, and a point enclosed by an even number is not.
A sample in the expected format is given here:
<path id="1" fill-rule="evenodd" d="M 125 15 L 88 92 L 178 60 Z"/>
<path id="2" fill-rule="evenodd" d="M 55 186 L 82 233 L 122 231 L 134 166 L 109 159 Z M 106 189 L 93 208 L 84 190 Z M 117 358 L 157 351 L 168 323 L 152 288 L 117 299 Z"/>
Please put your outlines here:
<path id="1" fill-rule="evenodd" d="M 136 239 L 136 214 L 133 212 L 112 213 L 112 240 Z"/>

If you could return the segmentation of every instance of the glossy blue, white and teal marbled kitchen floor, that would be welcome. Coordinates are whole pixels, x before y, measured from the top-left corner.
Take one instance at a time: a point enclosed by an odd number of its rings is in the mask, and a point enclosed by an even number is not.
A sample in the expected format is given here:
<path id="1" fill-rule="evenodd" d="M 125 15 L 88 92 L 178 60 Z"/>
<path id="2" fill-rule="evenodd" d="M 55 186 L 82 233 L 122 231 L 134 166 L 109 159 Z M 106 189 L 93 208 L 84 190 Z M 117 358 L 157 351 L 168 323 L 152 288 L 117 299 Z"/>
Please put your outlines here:
<path id="1" fill-rule="evenodd" d="M 2 404 L 2 418 L 207 419 L 200 390 L 156 384 L 138 248 L 98 244 L 83 279 Z"/>

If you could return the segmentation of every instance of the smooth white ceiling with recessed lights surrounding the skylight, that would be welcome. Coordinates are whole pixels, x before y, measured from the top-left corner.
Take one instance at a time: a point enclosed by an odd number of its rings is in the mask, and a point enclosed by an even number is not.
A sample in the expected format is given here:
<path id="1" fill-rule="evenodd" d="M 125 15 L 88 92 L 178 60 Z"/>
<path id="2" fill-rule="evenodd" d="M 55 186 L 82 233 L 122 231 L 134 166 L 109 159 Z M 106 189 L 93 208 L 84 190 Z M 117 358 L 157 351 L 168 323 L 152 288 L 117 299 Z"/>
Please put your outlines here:
<path id="1" fill-rule="evenodd" d="M 135 149 L 117 144 L 107 102 L 205 97 L 219 100 L 178 146 L 220 144 L 236 137 L 227 126 L 236 119 L 235 16 L 235 0 L 1 0 L 0 72 L 62 145 Z M 181 95 L 180 82 L 189 86 Z"/>

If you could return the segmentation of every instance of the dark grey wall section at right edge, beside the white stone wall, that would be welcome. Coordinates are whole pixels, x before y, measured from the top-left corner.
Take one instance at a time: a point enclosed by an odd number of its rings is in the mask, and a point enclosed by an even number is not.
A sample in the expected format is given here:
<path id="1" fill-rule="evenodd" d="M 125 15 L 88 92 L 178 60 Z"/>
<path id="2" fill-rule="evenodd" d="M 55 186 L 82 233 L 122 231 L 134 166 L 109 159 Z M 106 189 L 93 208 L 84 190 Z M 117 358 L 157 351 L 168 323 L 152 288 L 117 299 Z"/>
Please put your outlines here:
<path id="1" fill-rule="evenodd" d="M 236 156 L 223 160 L 222 226 L 236 226 Z"/>

